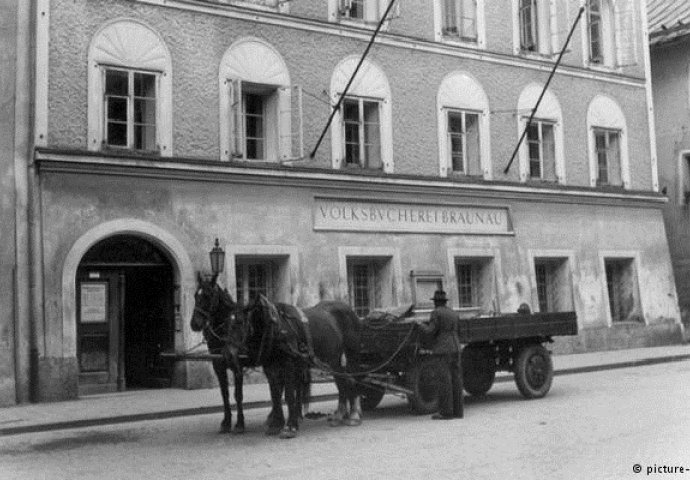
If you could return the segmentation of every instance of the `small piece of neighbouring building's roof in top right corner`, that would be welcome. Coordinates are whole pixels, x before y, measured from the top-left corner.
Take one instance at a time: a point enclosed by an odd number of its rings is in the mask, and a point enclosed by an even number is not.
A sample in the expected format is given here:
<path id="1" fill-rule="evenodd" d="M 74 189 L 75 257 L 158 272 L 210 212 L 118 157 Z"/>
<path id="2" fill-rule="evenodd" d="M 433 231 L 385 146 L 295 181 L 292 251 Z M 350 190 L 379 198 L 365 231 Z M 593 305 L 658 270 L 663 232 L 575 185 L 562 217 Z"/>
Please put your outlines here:
<path id="1" fill-rule="evenodd" d="M 647 17 L 652 45 L 690 35 L 690 0 L 647 0 Z"/>

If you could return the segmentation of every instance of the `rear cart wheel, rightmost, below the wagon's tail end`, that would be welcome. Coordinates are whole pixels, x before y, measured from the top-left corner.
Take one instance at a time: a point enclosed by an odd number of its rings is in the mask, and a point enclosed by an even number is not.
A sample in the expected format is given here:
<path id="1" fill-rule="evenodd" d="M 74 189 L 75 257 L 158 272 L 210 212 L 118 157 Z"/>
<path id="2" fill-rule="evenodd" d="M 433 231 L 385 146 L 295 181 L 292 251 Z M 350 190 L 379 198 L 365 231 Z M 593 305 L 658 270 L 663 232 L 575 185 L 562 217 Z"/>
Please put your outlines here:
<path id="1" fill-rule="evenodd" d="M 515 362 L 515 383 L 525 398 L 543 397 L 552 381 L 553 362 L 547 349 L 528 345 L 520 350 Z"/>

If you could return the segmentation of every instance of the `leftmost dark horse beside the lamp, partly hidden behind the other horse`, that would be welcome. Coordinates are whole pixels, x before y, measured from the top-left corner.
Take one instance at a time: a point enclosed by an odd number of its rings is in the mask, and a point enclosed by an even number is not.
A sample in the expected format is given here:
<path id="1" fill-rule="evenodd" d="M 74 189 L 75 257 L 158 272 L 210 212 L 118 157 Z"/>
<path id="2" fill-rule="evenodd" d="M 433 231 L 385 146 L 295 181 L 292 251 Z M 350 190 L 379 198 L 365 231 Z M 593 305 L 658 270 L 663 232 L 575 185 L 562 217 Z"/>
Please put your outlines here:
<path id="1" fill-rule="evenodd" d="M 243 321 L 244 310 L 232 300 L 228 291 L 220 288 L 216 283 L 217 275 L 209 281 L 198 276 L 198 288 L 194 295 L 194 314 L 192 315 L 191 327 L 195 332 L 202 331 L 209 353 L 222 355 L 222 358 L 213 360 L 213 370 L 218 377 L 220 393 L 223 397 L 224 417 L 220 425 L 221 433 L 232 431 L 232 411 L 230 408 L 230 394 L 228 389 L 228 373 L 232 370 L 235 377 L 235 402 L 237 404 L 237 423 L 235 433 L 243 433 L 244 411 L 243 411 L 243 370 L 263 366 L 264 373 L 271 386 L 271 399 L 273 408 L 269 414 L 269 428 L 267 433 L 275 435 L 283 427 L 284 420 L 282 409 L 283 385 L 286 375 L 295 375 L 296 379 L 302 379 L 298 385 L 296 408 L 301 411 L 302 403 L 308 400 L 309 370 L 305 366 L 300 366 L 300 370 L 286 370 L 286 364 L 279 357 L 248 355 L 248 350 L 253 347 L 251 341 L 251 331 L 240 328 L 235 330 L 235 335 L 228 335 L 232 324 L 239 326 L 249 326 L 248 322 Z M 232 353 L 231 353 L 232 352 Z M 256 352 L 256 349 L 254 349 Z"/>

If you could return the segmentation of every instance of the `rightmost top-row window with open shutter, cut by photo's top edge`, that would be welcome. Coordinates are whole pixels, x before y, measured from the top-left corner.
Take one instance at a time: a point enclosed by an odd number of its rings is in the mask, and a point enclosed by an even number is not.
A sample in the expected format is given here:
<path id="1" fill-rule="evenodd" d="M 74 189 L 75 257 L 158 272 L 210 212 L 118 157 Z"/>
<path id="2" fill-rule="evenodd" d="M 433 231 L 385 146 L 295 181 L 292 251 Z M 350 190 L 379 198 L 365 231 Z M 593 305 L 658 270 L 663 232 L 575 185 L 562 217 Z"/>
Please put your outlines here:
<path id="1" fill-rule="evenodd" d="M 635 2 L 587 0 L 587 46 L 590 64 L 634 65 L 637 56 Z"/>

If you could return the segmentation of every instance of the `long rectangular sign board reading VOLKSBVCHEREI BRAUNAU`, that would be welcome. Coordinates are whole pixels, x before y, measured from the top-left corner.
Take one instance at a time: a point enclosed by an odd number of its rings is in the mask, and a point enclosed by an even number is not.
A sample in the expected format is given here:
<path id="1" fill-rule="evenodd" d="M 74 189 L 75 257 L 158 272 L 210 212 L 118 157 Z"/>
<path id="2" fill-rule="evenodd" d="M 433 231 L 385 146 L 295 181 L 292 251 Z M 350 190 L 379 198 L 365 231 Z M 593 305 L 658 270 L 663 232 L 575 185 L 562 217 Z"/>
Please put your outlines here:
<path id="1" fill-rule="evenodd" d="M 509 235 L 508 207 L 314 199 L 314 230 Z"/>

